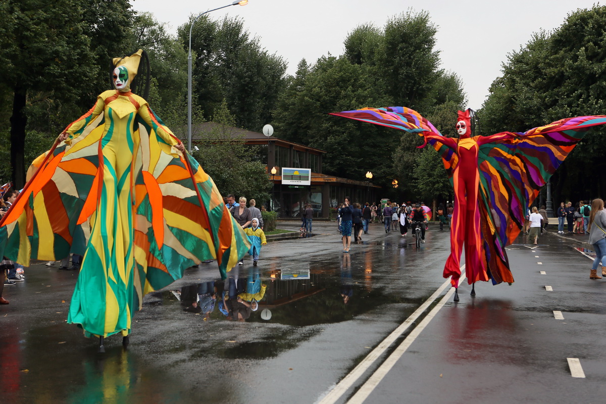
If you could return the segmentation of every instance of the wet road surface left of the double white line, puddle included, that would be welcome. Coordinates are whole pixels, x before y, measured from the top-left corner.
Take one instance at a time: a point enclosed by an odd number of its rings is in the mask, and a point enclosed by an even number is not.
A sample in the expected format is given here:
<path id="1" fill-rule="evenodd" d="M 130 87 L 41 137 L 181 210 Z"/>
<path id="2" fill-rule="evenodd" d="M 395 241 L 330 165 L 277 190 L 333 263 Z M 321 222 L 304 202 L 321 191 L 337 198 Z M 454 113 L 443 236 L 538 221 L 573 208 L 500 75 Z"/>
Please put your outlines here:
<path id="1" fill-rule="evenodd" d="M 381 234 L 348 254 L 335 237 L 304 236 L 270 243 L 258 266 L 247 257 L 226 280 L 216 263 L 191 268 L 145 296 L 128 350 L 108 337 L 102 355 L 95 339 L 65 324 L 76 271 L 28 268 L 3 308 L 0 402 L 257 402 L 265 393 L 249 400 L 253 379 L 281 380 L 301 363 L 313 363 L 305 389 L 323 391 L 443 282 L 448 245 L 431 232 L 419 249 L 410 237 Z M 267 402 L 282 388 L 288 383 L 274 385 Z"/>

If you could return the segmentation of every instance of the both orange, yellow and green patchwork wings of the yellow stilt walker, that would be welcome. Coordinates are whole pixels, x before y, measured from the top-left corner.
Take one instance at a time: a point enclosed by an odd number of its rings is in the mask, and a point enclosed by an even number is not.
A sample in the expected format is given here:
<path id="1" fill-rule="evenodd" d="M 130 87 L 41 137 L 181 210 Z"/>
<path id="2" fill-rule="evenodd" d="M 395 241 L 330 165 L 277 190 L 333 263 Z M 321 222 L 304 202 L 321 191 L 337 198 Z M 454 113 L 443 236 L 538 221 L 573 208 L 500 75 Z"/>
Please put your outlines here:
<path id="1" fill-rule="evenodd" d="M 163 125 L 154 118 L 153 126 Z M 143 294 L 181 278 L 185 268 L 201 260 L 216 259 L 225 279 L 250 243 L 198 162 L 189 155 L 175 157 L 155 127 L 142 119 L 138 123 L 132 253 L 140 308 Z M 33 162 L 27 185 L 0 221 L 0 254 L 29 265 L 30 259 L 85 253 L 101 197 L 103 126 L 101 114 L 72 145 L 55 144 Z"/>

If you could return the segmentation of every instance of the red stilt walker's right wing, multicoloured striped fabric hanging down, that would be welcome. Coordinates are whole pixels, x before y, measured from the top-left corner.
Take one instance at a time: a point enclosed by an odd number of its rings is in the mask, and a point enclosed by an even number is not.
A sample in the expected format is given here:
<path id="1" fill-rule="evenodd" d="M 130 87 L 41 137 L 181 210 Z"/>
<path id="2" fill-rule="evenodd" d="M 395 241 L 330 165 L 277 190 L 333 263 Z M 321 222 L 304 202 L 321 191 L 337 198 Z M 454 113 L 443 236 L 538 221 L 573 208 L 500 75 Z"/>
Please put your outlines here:
<path id="1" fill-rule="evenodd" d="M 484 252 L 494 283 L 510 282 L 505 246 L 518 237 L 528 207 L 585 131 L 606 116 L 561 119 L 524 133 L 498 133 L 479 141 L 478 165 Z"/>

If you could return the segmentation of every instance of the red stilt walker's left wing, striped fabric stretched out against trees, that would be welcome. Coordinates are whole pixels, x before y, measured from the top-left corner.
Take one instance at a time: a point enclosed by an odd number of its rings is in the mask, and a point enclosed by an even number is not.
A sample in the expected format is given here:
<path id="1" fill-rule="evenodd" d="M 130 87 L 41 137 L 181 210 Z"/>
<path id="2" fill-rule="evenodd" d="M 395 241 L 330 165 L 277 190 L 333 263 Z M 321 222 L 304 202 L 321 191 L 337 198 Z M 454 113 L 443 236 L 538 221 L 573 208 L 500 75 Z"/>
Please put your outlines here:
<path id="1" fill-rule="evenodd" d="M 355 119 L 356 121 L 369 122 L 370 124 L 381 125 L 388 128 L 404 130 L 410 133 L 417 133 L 424 136 L 432 132 L 437 136 L 427 139 L 427 142 L 438 151 L 444 162 L 444 168 L 451 177 L 454 168 L 458 162 L 458 156 L 451 148 L 439 141 L 442 134 L 436 129 L 430 121 L 423 118 L 415 110 L 407 107 L 384 107 L 384 108 L 362 108 L 361 110 L 342 111 L 330 113 L 330 115 L 342 116 L 344 118 Z M 424 147 L 424 145 L 420 147 Z"/>

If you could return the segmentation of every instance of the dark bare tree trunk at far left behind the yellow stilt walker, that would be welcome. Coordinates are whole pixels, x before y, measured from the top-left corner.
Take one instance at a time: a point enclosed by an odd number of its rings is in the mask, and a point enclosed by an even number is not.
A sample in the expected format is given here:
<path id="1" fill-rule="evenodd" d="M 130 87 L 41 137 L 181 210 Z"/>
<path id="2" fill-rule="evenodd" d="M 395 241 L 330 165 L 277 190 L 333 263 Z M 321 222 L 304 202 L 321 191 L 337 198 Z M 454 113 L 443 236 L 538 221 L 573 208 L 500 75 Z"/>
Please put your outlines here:
<path id="1" fill-rule="evenodd" d="M 25 185 L 25 100 L 27 90 L 15 87 L 13 116 L 10 117 L 10 165 L 13 170 L 13 187 L 20 190 Z"/>

